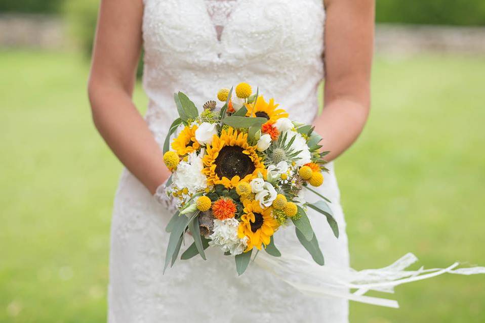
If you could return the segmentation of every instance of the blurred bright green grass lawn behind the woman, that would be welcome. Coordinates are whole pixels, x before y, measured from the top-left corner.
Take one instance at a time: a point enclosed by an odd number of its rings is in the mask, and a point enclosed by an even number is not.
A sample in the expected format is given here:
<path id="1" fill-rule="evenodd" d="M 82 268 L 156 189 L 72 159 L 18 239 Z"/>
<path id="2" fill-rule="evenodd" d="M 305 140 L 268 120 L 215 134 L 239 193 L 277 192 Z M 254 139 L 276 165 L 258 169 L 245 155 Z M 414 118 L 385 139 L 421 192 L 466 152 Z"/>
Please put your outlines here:
<path id="1" fill-rule="evenodd" d="M 1 52 L 0 71 L 0 322 L 103 322 L 122 167 L 92 124 L 86 62 Z M 409 251 L 485 265 L 483 75 L 485 58 L 376 59 L 369 124 L 336 162 L 354 268 Z M 352 303 L 351 321 L 485 321 L 485 275 L 382 296 L 401 309 Z"/>

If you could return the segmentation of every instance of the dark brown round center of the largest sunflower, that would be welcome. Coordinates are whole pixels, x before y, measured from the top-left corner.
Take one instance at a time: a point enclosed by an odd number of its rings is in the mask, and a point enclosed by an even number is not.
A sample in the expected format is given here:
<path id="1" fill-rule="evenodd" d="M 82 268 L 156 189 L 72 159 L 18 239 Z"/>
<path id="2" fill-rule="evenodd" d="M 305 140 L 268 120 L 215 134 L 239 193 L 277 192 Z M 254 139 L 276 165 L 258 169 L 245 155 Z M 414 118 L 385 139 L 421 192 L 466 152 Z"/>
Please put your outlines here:
<path id="1" fill-rule="evenodd" d="M 222 147 L 215 161 L 216 174 L 219 178 L 225 176 L 230 179 L 236 175 L 244 178 L 253 173 L 256 167 L 251 158 L 242 151 L 239 146 Z"/>

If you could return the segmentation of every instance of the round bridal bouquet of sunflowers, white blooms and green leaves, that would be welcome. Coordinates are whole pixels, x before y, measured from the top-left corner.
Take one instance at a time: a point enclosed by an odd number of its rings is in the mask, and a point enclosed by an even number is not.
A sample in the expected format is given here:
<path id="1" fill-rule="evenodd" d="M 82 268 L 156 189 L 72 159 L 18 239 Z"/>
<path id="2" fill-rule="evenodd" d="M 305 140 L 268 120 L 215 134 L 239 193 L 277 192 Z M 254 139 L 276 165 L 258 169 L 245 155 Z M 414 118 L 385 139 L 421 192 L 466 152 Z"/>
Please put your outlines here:
<path id="1" fill-rule="evenodd" d="M 218 247 L 234 256 L 242 274 L 254 249 L 279 257 L 274 236 L 292 225 L 303 247 L 323 265 L 306 215 L 310 208 L 326 216 L 338 237 L 327 199 L 312 189 L 328 171 L 323 159 L 328 152 L 320 152 L 318 145 L 321 137 L 312 126 L 288 119 L 273 99 L 266 102 L 258 91 L 252 94 L 249 84 L 240 83 L 232 92 L 219 90 L 222 107 L 208 101 L 200 114 L 185 94 L 174 95 L 180 117 L 165 139 L 164 162 L 172 172 L 166 194 L 178 211 L 166 228 L 170 239 L 164 270 L 178 258 L 187 230 L 194 242 L 181 259 L 206 259 L 204 250 Z M 322 200 L 307 203 L 303 189 Z"/>

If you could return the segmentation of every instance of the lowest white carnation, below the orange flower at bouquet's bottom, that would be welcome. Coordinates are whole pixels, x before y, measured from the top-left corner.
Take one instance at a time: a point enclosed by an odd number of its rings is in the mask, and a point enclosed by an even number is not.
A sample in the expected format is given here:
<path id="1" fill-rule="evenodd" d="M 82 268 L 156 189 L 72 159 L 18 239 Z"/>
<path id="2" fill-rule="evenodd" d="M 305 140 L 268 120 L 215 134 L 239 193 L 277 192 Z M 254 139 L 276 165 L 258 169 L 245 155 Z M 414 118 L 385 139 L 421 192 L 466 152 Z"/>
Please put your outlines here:
<path id="1" fill-rule="evenodd" d="M 214 220 L 214 233 L 209 236 L 209 245 L 219 246 L 222 251 L 229 251 L 232 255 L 241 254 L 248 247 L 248 237 L 239 239 L 238 227 L 239 221 L 234 218 Z"/>

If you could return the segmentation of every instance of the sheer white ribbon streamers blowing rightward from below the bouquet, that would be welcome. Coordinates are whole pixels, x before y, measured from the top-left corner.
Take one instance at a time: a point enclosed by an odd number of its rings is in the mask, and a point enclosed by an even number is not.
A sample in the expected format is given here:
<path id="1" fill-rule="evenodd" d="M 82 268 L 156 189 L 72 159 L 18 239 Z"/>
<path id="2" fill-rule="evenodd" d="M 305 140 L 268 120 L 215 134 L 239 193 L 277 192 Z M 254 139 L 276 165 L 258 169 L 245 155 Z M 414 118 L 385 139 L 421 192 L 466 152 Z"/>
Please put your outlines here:
<path id="1" fill-rule="evenodd" d="M 485 267 L 455 269 L 460 265 L 458 262 L 447 268 L 424 269 L 421 267 L 418 270 L 405 270 L 417 260 L 418 258 L 414 254 L 408 253 L 387 267 L 360 271 L 329 265 L 320 266 L 294 254 L 273 257 L 265 252 L 260 252 L 254 262 L 281 281 L 307 295 L 339 297 L 394 308 L 399 307 L 395 300 L 364 294 L 371 290 L 393 293 L 395 286 L 432 278 L 446 272 L 461 275 L 485 273 Z M 349 289 L 356 289 L 356 291 L 351 293 Z"/>

